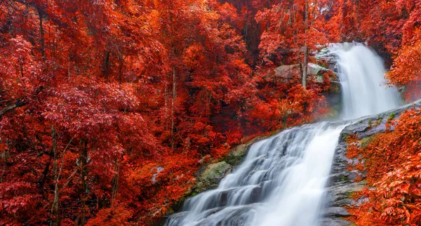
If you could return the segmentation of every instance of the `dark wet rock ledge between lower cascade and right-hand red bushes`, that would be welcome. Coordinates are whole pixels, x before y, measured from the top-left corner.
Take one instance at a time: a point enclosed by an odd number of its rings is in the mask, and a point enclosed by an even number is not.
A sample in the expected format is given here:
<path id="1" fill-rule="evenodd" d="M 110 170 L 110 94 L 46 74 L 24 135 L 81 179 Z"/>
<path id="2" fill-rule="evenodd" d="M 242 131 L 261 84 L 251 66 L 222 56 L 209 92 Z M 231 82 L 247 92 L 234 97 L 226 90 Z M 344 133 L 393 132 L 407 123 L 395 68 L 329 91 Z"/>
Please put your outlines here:
<path id="1" fill-rule="evenodd" d="M 328 184 L 328 192 L 326 194 L 326 208 L 321 219 L 321 225 L 326 226 L 345 226 L 352 225 L 352 222 L 345 220 L 349 217 L 349 213 L 345 206 L 359 205 L 366 201 L 366 198 L 359 200 L 351 199 L 353 192 L 358 192 L 366 187 L 365 172 L 356 170 L 348 171 L 349 164 L 355 164 L 357 159 L 348 159 L 347 154 L 347 137 L 355 134 L 361 142 L 360 147 L 366 146 L 377 133 L 386 131 L 387 121 L 397 119 L 407 109 L 415 109 L 421 107 L 421 100 L 410 105 L 405 105 L 398 109 L 393 109 L 381 114 L 356 119 L 344 128 L 340 135 L 340 140 L 335 151 L 335 159 L 333 161 L 332 173 L 330 174 L 330 182 Z M 394 129 L 390 128 L 391 130 Z M 362 178 L 360 182 L 354 182 L 356 178 Z"/>

